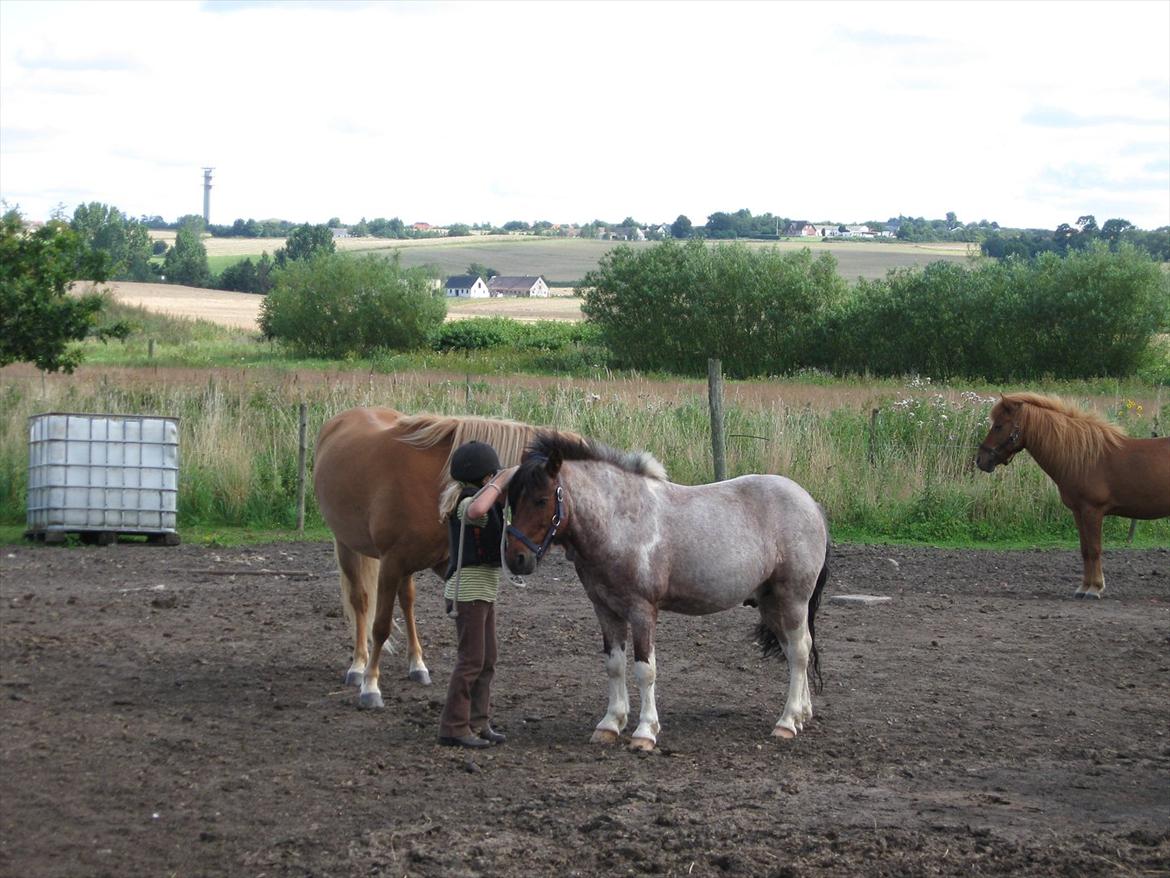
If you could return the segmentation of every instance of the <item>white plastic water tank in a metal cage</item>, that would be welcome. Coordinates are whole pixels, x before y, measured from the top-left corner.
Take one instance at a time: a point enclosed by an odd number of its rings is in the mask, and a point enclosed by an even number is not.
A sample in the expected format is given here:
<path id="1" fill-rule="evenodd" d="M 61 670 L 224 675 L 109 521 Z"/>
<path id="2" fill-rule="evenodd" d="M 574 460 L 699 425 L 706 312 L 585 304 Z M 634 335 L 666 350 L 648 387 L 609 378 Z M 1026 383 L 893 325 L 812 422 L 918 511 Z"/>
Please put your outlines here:
<path id="1" fill-rule="evenodd" d="M 174 534 L 178 496 L 178 418 L 48 412 L 28 419 L 29 536 Z"/>

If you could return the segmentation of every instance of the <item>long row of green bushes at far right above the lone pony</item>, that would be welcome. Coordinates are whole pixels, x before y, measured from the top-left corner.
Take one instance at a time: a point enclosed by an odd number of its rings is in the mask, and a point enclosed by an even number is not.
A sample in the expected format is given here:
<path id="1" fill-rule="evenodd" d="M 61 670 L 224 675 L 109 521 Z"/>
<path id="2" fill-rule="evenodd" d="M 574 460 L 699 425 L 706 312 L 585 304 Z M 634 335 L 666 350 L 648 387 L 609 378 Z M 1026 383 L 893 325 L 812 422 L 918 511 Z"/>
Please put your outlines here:
<path id="1" fill-rule="evenodd" d="M 934 262 L 859 282 L 823 324 L 813 364 L 992 382 L 1156 375 L 1168 315 L 1170 280 L 1128 245 Z"/>

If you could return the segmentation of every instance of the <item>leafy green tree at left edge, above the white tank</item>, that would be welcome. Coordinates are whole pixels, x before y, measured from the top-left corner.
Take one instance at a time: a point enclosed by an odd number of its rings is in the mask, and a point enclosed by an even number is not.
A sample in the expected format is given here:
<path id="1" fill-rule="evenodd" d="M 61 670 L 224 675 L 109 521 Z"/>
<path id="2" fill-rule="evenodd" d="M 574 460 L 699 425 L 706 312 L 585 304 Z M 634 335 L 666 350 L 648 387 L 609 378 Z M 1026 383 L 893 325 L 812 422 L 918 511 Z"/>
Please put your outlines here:
<path id="1" fill-rule="evenodd" d="M 76 342 L 125 338 L 124 322 L 98 325 L 105 296 L 69 295 L 77 277 L 105 280 L 106 265 L 105 253 L 88 247 L 63 221 L 28 231 L 20 214 L 8 211 L 0 219 L 0 366 L 34 363 L 71 372 L 82 359 Z"/>

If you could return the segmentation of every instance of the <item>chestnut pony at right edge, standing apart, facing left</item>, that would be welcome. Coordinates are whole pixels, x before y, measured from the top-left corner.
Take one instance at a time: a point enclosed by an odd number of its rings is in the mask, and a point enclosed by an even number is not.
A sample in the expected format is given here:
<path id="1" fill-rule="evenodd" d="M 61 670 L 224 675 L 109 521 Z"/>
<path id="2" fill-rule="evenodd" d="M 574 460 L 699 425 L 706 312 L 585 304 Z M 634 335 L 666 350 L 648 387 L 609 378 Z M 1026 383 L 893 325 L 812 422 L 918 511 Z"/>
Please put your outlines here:
<path id="1" fill-rule="evenodd" d="M 1170 515 L 1170 438 L 1131 439 L 1092 412 L 1039 393 L 1005 393 L 976 465 L 990 473 L 1027 451 L 1057 483 L 1081 537 L 1085 577 L 1075 597 L 1101 597 L 1101 519 Z"/>

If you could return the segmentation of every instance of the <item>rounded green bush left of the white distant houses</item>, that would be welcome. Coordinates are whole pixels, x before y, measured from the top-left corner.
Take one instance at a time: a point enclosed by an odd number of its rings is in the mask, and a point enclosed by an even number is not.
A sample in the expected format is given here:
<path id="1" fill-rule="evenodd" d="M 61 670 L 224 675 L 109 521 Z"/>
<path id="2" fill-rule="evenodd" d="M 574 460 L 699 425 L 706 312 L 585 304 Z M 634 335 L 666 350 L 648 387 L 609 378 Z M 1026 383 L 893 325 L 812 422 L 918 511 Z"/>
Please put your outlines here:
<path id="1" fill-rule="evenodd" d="M 297 352 L 344 358 L 420 348 L 446 314 L 425 273 L 402 268 L 397 255 L 326 254 L 276 272 L 260 327 Z"/>

